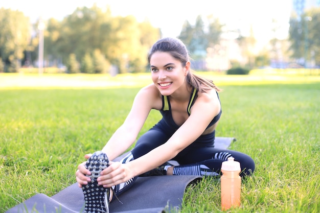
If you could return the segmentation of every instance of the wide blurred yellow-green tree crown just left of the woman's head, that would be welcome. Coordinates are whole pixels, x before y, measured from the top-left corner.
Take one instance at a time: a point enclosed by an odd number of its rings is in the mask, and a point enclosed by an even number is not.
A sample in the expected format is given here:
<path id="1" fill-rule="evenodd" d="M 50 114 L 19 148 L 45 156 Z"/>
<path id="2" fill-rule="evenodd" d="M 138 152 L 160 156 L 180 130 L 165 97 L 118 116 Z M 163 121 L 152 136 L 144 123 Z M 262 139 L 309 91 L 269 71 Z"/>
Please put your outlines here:
<path id="1" fill-rule="evenodd" d="M 62 58 L 66 63 L 70 54 L 83 59 L 87 53 L 99 50 L 103 60 L 117 66 L 121 73 L 141 72 L 147 65 L 148 50 L 159 34 L 159 29 L 148 21 L 139 23 L 133 16 L 112 17 L 108 8 L 102 11 L 94 5 L 77 8 L 59 24 L 49 20 L 46 53 L 47 57 Z"/>

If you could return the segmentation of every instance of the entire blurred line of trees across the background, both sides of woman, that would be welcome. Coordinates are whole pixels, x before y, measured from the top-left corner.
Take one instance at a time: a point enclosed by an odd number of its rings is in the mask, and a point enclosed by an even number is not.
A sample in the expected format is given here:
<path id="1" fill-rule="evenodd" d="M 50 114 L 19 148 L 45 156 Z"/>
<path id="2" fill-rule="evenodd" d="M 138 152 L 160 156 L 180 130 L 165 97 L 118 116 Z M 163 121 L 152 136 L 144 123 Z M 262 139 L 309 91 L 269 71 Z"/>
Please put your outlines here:
<path id="1" fill-rule="evenodd" d="M 22 12 L 0 8 L 0 72 L 17 72 L 21 66 L 37 66 L 39 19 L 33 25 Z M 271 29 L 275 34 L 277 23 Z M 255 38 L 238 33 L 236 42 L 247 57 L 248 68 L 270 64 L 270 59 L 280 58 L 279 46 L 289 42 L 289 48 L 281 50 L 291 59 L 305 63 L 320 63 L 320 9 L 306 11 L 303 17 L 291 17 L 289 38 L 270 40 L 270 50 L 252 51 Z M 224 26 L 218 18 L 198 16 L 194 25 L 185 21 L 180 38 L 190 51 L 194 63 L 204 61 L 208 49 L 221 51 Z M 110 9 L 97 6 L 77 8 L 62 21 L 54 18 L 45 21 L 45 67 L 66 67 L 68 73 L 136 73 L 146 72 L 147 54 L 151 45 L 161 38 L 161 31 L 148 20 L 138 22 L 134 16 L 111 16 Z M 237 61 L 231 65 L 237 66 Z M 195 66 L 199 64 L 194 64 Z M 238 64 L 239 66 L 241 64 Z M 201 69 L 201 66 L 197 66 Z"/>

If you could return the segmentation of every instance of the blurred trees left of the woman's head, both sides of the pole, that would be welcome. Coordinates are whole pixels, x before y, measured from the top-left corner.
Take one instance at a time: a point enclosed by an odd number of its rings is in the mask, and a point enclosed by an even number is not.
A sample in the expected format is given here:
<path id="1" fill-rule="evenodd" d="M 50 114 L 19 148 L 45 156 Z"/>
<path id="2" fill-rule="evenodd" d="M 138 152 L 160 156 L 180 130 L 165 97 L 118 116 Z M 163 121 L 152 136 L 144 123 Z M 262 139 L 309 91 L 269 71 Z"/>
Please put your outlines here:
<path id="1" fill-rule="evenodd" d="M 0 9 L 0 58 L 6 72 L 37 63 L 39 19 L 32 26 L 19 11 Z M 113 17 L 97 6 L 77 8 L 62 21 L 51 18 L 44 29 L 45 66 L 65 65 L 69 73 L 116 73 L 146 70 L 147 53 L 161 37 L 149 21 Z M 111 67 L 112 66 L 112 67 Z"/>

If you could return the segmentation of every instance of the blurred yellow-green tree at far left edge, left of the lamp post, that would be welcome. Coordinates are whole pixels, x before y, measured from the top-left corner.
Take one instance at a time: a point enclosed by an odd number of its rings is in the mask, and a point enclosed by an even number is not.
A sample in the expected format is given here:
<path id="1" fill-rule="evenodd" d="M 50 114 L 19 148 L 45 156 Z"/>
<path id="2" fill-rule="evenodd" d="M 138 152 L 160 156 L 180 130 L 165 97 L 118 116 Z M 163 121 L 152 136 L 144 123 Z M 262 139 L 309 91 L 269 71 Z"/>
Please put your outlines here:
<path id="1" fill-rule="evenodd" d="M 22 12 L 0 8 L 0 57 L 6 72 L 17 72 L 30 42 L 30 21 Z"/>

